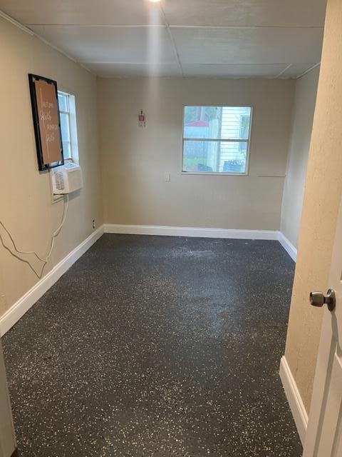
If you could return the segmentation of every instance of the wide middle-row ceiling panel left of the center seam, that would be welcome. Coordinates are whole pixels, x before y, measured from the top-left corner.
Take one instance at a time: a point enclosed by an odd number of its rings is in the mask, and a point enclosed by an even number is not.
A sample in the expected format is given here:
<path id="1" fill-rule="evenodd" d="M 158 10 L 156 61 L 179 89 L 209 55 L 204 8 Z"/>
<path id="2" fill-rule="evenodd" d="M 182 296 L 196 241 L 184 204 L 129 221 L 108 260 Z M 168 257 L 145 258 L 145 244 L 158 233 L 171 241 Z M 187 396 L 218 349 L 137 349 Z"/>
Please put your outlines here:
<path id="1" fill-rule="evenodd" d="M 165 27 L 33 26 L 37 34 L 80 62 L 176 63 Z"/>

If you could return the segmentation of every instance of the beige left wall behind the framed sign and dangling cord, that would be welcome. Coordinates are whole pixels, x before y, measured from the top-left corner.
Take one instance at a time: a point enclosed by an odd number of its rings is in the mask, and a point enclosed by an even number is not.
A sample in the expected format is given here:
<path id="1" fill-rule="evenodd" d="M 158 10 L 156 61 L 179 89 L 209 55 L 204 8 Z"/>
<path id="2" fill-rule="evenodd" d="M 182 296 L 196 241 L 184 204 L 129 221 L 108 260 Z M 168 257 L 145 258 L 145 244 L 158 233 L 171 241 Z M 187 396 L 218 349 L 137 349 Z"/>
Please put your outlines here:
<path id="1" fill-rule="evenodd" d="M 51 204 L 48 173 L 39 173 L 33 134 L 28 73 L 58 81 L 59 89 L 76 95 L 78 146 L 84 189 L 71 196 L 66 224 L 45 272 L 103 223 L 96 79 L 81 66 L 4 19 L 0 19 L 0 217 L 24 250 L 46 256 L 63 203 Z M 4 233 L 4 231 L 1 231 Z M 26 256 L 31 259 L 33 256 Z M 34 262 L 33 262 L 34 263 Z M 36 282 L 26 263 L 0 246 L 0 316 Z M 38 266 L 38 263 L 34 263 Z"/>

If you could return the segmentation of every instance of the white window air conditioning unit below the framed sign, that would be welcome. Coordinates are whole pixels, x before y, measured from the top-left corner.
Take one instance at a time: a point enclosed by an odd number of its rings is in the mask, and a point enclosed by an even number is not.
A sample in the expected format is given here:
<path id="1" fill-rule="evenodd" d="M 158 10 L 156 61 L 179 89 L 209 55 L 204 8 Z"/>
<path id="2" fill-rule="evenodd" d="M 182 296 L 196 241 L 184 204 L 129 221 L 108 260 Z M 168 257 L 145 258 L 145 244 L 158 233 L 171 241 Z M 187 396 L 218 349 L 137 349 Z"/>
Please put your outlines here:
<path id="1" fill-rule="evenodd" d="M 81 166 L 68 162 L 51 170 L 52 191 L 55 195 L 71 194 L 83 187 Z"/>

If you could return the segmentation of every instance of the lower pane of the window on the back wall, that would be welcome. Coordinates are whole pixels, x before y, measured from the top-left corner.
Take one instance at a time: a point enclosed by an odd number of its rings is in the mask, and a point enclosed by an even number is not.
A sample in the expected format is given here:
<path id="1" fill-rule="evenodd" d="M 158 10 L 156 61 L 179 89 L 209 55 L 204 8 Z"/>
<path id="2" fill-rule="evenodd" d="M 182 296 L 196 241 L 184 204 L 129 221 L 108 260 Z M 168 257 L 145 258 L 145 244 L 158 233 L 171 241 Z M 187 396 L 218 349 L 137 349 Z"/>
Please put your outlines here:
<path id="1" fill-rule="evenodd" d="M 247 168 L 247 151 L 247 141 L 186 140 L 183 171 L 244 174 Z"/>

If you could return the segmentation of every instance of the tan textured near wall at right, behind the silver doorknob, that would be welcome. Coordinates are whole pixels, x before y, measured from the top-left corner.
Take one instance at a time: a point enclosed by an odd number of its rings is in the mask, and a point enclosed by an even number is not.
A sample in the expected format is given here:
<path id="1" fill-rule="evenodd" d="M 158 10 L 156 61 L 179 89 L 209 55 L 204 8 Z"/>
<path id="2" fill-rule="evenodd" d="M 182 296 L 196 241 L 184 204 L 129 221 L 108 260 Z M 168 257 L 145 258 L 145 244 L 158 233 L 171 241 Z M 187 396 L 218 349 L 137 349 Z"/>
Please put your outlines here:
<path id="1" fill-rule="evenodd" d="M 322 311 L 309 292 L 326 291 L 342 196 L 342 2 L 329 0 L 299 236 L 286 359 L 309 411 Z"/>

